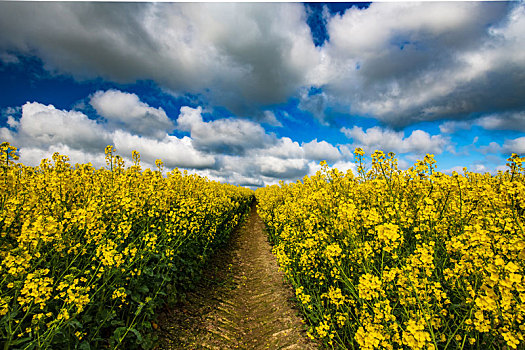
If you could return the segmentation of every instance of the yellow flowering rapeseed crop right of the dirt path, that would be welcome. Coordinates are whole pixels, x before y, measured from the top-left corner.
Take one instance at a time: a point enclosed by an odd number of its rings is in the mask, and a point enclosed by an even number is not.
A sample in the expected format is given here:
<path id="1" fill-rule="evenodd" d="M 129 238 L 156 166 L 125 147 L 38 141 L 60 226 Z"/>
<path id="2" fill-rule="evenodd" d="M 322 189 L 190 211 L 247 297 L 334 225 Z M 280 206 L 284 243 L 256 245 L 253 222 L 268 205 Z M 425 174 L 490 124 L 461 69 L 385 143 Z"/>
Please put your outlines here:
<path id="1" fill-rule="evenodd" d="M 525 174 L 400 171 L 376 151 L 258 189 L 309 335 L 334 348 L 524 349 Z"/>

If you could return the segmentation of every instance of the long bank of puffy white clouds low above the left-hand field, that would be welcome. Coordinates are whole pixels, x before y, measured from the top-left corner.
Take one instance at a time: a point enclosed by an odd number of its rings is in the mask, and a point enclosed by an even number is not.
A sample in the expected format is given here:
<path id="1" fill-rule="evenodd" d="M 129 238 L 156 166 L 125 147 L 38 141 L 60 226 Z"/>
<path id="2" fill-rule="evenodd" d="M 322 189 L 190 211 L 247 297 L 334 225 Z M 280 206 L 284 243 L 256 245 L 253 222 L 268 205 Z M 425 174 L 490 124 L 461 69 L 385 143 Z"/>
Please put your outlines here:
<path id="1" fill-rule="evenodd" d="M 205 121 L 202 107 L 181 108 L 176 127 L 189 136 L 177 137 L 166 132 L 169 119 L 164 111 L 146 105 L 136 95 L 97 92 L 90 103 L 103 118 L 90 119 L 80 111 L 38 102 L 6 109 L 7 126 L 0 128 L 0 138 L 20 148 L 26 165 L 38 165 L 59 152 L 72 163 L 102 167 L 104 148 L 111 144 L 128 164 L 132 151 L 137 150 L 144 167 L 162 159 L 167 169 L 190 169 L 210 179 L 251 187 L 302 178 L 319 160 L 345 169 L 352 166 L 339 147 L 326 141 L 299 144 L 239 118 Z M 137 125 L 139 121 L 148 126 Z"/>

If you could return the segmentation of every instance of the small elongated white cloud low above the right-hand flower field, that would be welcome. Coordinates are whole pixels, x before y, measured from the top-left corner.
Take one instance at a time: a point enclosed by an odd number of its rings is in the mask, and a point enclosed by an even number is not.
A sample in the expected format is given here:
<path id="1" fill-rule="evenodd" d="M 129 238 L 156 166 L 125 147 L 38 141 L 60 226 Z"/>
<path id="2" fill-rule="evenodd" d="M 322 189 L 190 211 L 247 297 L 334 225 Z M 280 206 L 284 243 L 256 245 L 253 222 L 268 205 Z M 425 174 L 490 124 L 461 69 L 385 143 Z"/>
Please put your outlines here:
<path id="1" fill-rule="evenodd" d="M 341 132 L 353 140 L 353 147 L 362 147 L 367 152 L 381 150 L 383 152 L 425 154 L 442 153 L 449 140 L 441 135 L 430 135 L 423 130 L 414 130 L 405 137 L 404 131 L 396 132 L 378 126 L 367 129 L 354 126 L 341 128 Z"/>

